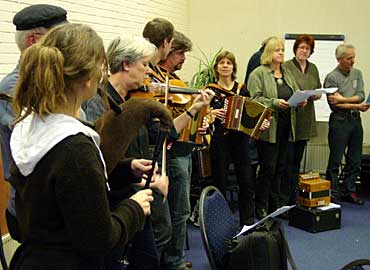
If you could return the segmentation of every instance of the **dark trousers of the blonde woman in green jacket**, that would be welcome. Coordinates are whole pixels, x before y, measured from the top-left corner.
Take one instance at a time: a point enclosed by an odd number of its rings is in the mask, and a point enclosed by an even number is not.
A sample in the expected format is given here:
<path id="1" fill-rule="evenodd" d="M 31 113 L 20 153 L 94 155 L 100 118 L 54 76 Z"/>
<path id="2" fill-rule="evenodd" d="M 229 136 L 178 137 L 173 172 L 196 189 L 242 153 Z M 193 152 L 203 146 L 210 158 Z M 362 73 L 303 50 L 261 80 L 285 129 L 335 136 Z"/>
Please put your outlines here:
<path id="1" fill-rule="evenodd" d="M 278 124 L 276 143 L 257 142 L 260 169 L 256 181 L 256 208 L 266 209 L 268 213 L 281 206 L 280 184 L 286 177 L 289 133 L 289 127 Z"/>

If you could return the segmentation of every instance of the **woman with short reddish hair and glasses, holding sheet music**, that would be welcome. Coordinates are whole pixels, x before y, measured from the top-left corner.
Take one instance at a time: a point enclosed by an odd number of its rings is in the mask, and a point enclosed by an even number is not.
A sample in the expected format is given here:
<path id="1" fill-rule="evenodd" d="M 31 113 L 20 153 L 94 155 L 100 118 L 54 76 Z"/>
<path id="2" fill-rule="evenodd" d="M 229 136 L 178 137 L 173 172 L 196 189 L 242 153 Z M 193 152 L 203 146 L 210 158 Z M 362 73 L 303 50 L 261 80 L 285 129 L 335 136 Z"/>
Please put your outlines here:
<path id="1" fill-rule="evenodd" d="M 300 35 L 293 45 L 295 57 L 283 64 L 289 70 L 299 89 L 314 90 L 321 88 L 319 72 L 315 64 L 308 61 L 313 54 L 315 40 L 310 35 Z M 307 141 L 316 136 L 314 101 L 321 98 L 321 94 L 307 100 L 307 106 L 296 109 L 295 141 L 288 143 L 287 183 L 282 183 L 283 200 L 288 205 L 296 203 L 298 174 Z"/>

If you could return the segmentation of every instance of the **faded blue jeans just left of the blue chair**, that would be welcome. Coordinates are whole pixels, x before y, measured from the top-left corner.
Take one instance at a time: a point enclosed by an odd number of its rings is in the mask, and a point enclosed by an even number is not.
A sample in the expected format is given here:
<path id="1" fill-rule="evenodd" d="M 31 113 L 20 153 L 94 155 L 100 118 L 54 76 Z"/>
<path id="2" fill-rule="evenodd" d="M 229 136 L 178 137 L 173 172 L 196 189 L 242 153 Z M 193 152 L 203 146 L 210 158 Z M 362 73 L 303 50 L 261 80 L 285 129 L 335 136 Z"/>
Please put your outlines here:
<path id="1" fill-rule="evenodd" d="M 169 270 L 184 268 L 186 221 L 190 216 L 191 154 L 168 160 L 167 172 L 170 180 L 168 204 L 172 221 L 172 238 L 167 248 Z"/>

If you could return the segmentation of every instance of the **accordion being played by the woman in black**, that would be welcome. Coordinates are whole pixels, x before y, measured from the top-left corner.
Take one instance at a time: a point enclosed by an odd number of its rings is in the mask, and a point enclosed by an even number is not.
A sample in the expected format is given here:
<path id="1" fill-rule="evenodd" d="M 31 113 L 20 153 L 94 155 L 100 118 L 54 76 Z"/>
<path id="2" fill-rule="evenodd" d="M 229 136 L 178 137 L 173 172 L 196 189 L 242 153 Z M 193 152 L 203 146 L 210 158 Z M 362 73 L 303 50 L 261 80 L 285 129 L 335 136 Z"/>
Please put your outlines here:
<path id="1" fill-rule="evenodd" d="M 261 134 L 260 127 L 263 121 L 272 114 L 272 110 L 263 104 L 239 95 L 227 97 L 224 109 L 225 128 L 241 131 L 257 140 Z"/>

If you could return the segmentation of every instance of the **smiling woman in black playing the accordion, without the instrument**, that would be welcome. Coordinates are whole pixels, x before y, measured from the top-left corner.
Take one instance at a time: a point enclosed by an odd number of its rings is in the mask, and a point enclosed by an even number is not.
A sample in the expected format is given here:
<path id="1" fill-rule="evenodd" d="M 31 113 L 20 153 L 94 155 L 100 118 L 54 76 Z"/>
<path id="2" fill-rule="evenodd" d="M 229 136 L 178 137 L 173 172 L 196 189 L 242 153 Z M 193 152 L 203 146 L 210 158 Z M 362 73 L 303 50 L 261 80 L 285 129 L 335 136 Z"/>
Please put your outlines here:
<path id="1" fill-rule="evenodd" d="M 225 118 L 224 101 L 227 95 L 248 96 L 244 84 L 235 80 L 237 64 L 235 56 L 229 51 L 221 52 L 213 66 L 217 84 L 208 85 L 215 91 L 211 102 L 212 114 L 216 116 L 215 130 L 211 139 L 212 175 L 215 185 L 225 194 L 228 185 L 229 158 L 235 167 L 239 186 L 239 215 L 241 225 L 254 223 L 254 187 L 250 177 L 249 137 L 238 131 L 227 131 L 222 122 Z"/>

